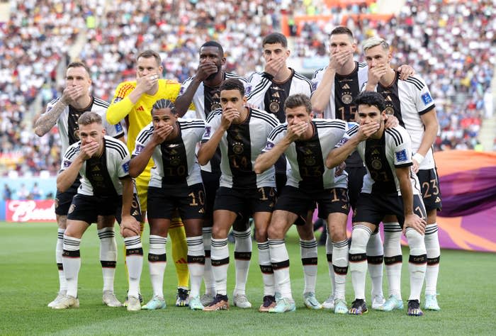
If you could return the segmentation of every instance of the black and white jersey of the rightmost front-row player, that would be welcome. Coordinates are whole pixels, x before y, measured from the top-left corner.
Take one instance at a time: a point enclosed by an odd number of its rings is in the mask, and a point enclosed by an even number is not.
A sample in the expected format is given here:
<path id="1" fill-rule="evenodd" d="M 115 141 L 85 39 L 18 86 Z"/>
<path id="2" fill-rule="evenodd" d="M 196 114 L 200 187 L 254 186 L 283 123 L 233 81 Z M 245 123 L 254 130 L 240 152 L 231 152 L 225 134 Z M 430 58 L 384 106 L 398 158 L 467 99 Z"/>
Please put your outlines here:
<path id="1" fill-rule="evenodd" d="M 353 137 L 359 126 L 350 128 L 338 147 Z M 381 139 L 362 141 L 356 147 L 367 174 L 363 177 L 361 192 L 366 194 L 397 194 L 401 196 L 400 182 L 395 168 L 412 166 L 412 141 L 400 125 L 386 128 Z M 420 194 L 417 175 L 410 172 L 413 194 Z"/>

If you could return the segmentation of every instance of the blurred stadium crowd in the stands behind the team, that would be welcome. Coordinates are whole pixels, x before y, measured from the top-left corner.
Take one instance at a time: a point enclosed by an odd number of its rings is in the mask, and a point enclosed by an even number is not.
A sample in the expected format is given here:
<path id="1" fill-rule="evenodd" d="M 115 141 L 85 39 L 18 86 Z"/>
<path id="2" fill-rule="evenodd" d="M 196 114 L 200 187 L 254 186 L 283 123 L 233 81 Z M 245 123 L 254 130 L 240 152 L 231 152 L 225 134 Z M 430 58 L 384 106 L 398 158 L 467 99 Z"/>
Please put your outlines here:
<path id="1" fill-rule="evenodd" d="M 109 101 L 119 82 L 135 77 L 140 50 L 159 50 L 164 77 L 183 82 L 196 72 L 198 46 L 218 40 L 227 70 L 249 74 L 263 67 L 267 33 L 287 30 L 293 57 L 328 57 L 327 36 L 339 24 L 351 28 L 359 43 L 376 34 L 389 40 L 393 63 L 412 65 L 426 79 L 441 126 L 437 150 L 478 145 L 482 119 L 491 113 L 485 98 L 496 64 L 495 3 L 406 1 L 398 15 L 381 21 L 351 15 L 375 13 L 375 1 L 337 2 L 11 1 L 10 19 L 0 26 L 0 174 L 57 173 L 57 130 L 38 138 L 26 113 L 37 96 L 45 105 L 60 93 L 57 66 L 66 65 L 77 43 L 77 58 L 92 72 L 94 95 Z M 332 19 L 298 26 L 298 16 Z M 356 58 L 363 60 L 360 44 Z"/>

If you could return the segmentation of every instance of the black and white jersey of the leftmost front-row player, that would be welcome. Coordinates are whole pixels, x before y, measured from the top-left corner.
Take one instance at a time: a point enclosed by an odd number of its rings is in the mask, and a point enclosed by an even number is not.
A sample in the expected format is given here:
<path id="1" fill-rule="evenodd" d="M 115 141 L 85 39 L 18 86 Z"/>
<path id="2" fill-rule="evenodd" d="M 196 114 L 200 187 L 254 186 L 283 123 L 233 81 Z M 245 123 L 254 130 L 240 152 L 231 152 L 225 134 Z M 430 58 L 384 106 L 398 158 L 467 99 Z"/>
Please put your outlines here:
<path id="1" fill-rule="evenodd" d="M 128 147 L 107 135 L 103 137 L 103 153 L 87 159 L 79 174 L 81 185 L 78 194 L 88 196 L 118 196 L 123 194 L 120 179 L 129 176 L 130 155 Z M 67 148 L 60 171 L 67 169 L 81 152 L 81 141 Z"/>

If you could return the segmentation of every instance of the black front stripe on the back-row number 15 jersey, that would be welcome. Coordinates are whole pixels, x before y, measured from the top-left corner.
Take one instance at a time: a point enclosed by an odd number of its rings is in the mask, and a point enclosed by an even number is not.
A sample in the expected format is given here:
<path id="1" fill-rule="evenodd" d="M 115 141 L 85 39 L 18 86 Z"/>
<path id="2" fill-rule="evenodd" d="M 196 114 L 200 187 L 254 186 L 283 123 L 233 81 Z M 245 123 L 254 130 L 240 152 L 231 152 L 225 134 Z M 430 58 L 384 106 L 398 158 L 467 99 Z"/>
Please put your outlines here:
<path id="1" fill-rule="evenodd" d="M 359 62 L 351 74 L 334 76 L 334 108 L 336 118 L 344 121 L 354 121 L 357 106 L 354 99 L 360 94 Z"/>

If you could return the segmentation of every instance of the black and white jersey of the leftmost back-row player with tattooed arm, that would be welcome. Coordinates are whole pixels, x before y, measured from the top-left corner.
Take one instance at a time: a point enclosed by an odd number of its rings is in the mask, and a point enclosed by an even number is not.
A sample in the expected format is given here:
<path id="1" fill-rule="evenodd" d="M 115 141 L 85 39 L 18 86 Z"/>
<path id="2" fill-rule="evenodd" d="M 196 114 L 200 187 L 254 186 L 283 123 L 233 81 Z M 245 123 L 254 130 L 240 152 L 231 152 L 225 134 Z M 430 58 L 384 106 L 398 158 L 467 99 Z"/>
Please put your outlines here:
<path id="1" fill-rule="evenodd" d="M 60 101 L 60 97 L 53 99 L 48 103 L 45 113 L 49 112 L 53 106 Z M 112 138 L 120 138 L 124 135 L 124 128 L 121 123 L 116 123 L 111 125 L 107 122 L 106 112 L 108 108 L 108 103 L 94 96 L 91 96 L 91 103 L 86 108 L 78 110 L 72 106 L 66 106 L 62 114 L 60 114 L 57 120 L 57 128 L 59 129 L 60 140 L 62 142 L 62 153 L 65 153 L 67 147 L 75 142 L 79 141 L 79 125 L 77 124 L 78 118 L 84 112 L 91 111 L 98 113 L 103 121 L 103 128 L 106 130 L 106 135 Z"/>

